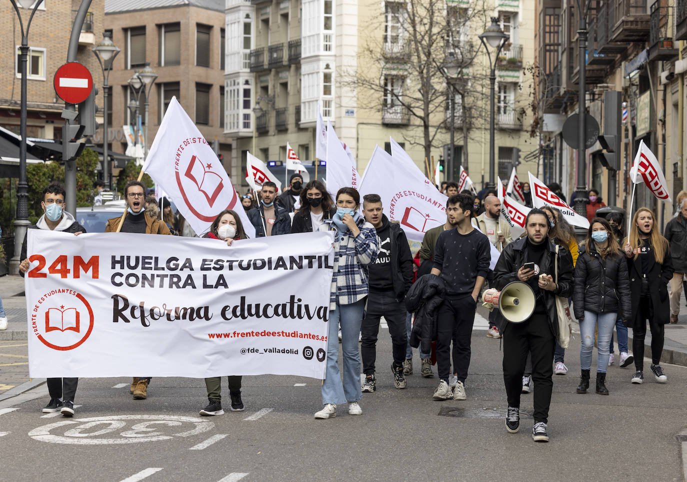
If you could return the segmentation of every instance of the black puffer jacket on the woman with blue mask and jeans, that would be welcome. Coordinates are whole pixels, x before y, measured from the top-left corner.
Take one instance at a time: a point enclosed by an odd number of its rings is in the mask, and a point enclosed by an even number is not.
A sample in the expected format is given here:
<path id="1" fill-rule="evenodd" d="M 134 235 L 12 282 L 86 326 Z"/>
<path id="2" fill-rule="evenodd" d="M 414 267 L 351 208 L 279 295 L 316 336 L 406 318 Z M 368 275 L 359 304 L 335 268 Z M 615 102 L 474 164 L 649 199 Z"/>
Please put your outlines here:
<path id="1" fill-rule="evenodd" d="M 630 282 L 624 254 L 607 255 L 604 260 L 596 246 L 580 246 L 575 265 L 575 292 L 572 297 L 576 319 L 593 313 L 616 312 L 620 319 L 632 316 Z"/>

